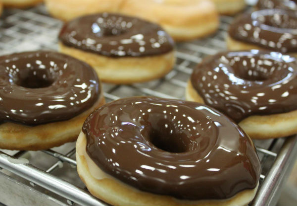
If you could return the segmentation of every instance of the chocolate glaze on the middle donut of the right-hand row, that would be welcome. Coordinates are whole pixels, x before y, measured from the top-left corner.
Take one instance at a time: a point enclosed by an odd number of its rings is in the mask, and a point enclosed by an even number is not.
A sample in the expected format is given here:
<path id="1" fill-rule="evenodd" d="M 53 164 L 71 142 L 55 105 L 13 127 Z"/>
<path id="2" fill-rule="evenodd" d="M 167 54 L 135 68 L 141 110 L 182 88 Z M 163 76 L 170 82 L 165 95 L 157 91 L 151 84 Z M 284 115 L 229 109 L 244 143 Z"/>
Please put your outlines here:
<path id="1" fill-rule="evenodd" d="M 191 82 L 210 105 L 240 122 L 297 109 L 296 59 L 259 50 L 223 52 L 202 61 Z"/>

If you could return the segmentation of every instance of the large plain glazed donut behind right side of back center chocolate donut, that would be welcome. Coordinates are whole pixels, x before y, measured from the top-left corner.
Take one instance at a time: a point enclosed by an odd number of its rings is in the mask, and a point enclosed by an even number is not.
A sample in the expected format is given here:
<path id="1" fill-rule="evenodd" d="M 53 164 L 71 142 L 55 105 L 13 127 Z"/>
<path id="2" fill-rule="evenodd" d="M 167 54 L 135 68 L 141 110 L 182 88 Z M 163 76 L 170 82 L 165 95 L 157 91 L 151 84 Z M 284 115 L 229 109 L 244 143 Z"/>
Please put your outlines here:
<path id="1" fill-rule="evenodd" d="M 120 12 L 160 24 L 176 41 L 205 37 L 219 26 L 211 0 L 126 0 Z"/>

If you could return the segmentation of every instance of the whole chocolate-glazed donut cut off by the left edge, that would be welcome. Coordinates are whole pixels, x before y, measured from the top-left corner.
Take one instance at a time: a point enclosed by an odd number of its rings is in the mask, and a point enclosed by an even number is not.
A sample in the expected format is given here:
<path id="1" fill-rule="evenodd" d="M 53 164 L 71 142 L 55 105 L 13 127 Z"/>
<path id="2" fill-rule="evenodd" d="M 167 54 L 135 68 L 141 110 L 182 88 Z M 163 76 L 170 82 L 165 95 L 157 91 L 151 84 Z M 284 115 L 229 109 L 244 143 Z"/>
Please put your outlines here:
<path id="1" fill-rule="evenodd" d="M 104 103 L 89 65 L 56 52 L 0 57 L 0 148 L 40 150 L 76 140 Z"/>

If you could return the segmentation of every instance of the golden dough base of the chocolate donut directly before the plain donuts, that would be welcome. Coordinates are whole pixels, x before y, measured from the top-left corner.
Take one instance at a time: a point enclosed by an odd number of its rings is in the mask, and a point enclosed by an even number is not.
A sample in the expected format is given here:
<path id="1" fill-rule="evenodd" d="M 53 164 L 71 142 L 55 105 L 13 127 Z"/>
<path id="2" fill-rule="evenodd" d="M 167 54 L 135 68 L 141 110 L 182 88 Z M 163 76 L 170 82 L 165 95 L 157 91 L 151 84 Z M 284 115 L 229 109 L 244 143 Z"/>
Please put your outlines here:
<path id="1" fill-rule="evenodd" d="M 175 64 L 175 52 L 148 57 L 112 58 L 59 44 L 60 52 L 87 62 L 108 83 L 128 84 L 156 79 L 168 73 Z"/>

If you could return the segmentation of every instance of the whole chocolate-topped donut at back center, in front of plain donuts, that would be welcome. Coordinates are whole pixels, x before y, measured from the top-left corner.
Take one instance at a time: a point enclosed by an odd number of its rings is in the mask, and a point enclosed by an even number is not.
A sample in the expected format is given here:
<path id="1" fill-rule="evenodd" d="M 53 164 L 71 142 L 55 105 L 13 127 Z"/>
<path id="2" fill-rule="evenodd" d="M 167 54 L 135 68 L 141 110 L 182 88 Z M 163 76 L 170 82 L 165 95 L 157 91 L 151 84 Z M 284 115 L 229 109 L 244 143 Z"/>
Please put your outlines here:
<path id="1" fill-rule="evenodd" d="M 60 51 L 90 64 L 109 83 L 159 78 L 173 69 L 174 42 L 158 25 L 114 13 L 78 17 L 62 27 Z"/>

